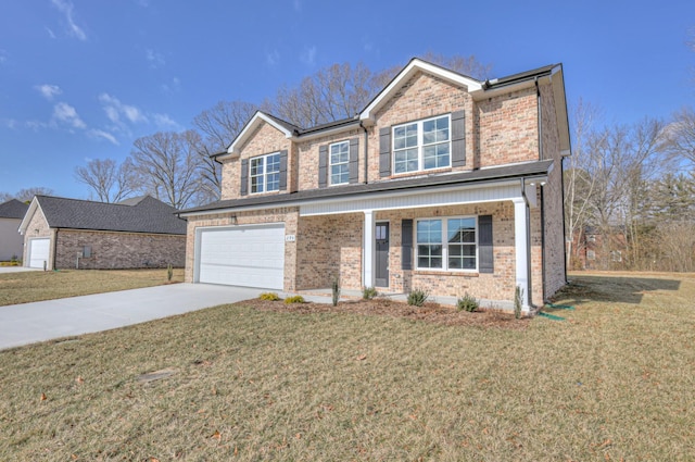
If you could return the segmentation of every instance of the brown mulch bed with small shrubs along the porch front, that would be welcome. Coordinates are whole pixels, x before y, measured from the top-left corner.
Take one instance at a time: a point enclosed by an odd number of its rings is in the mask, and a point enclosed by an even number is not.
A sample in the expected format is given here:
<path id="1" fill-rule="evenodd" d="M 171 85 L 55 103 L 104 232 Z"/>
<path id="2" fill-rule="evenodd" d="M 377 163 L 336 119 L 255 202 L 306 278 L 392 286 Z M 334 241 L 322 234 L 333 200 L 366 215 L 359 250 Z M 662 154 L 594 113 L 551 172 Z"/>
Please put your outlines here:
<path id="1" fill-rule="evenodd" d="M 481 310 L 473 313 L 457 311 L 454 307 L 439 303 L 425 303 L 424 307 L 410 307 L 407 303 L 389 299 L 341 301 L 337 307 L 330 303 L 285 303 L 253 299 L 239 304 L 261 311 L 276 311 L 283 313 L 352 313 L 363 315 L 381 315 L 405 317 L 413 321 L 426 321 L 444 325 L 477 326 L 484 328 L 525 329 L 530 319 L 516 320 L 514 313 L 498 310 Z"/>

